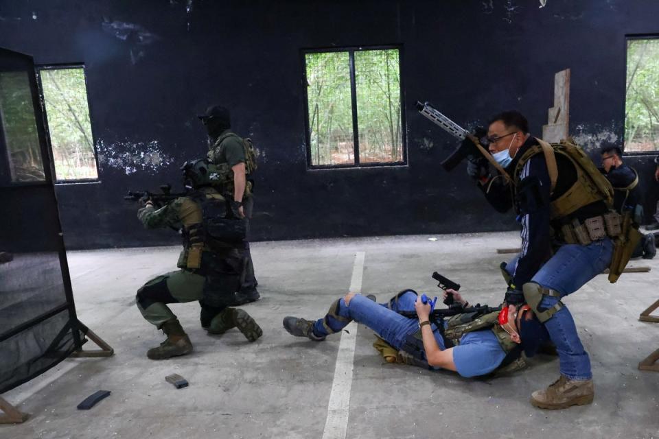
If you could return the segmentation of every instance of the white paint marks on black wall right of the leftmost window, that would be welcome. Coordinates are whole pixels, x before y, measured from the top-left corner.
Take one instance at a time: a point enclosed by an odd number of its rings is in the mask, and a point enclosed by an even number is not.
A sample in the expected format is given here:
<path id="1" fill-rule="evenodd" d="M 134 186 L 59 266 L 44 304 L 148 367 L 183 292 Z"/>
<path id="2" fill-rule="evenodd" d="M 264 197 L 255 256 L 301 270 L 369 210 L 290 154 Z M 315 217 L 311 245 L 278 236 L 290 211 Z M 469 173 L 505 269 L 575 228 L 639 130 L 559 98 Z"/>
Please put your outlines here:
<path id="1" fill-rule="evenodd" d="M 97 141 L 98 163 L 101 168 L 122 169 L 126 175 L 137 171 L 155 174 L 174 163 L 174 158 L 161 150 L 157 140 L 150 142 Z"/>

